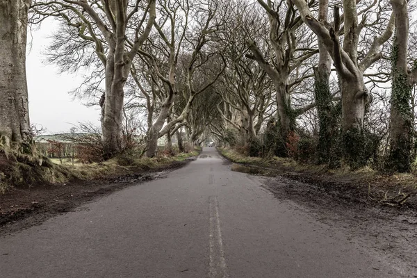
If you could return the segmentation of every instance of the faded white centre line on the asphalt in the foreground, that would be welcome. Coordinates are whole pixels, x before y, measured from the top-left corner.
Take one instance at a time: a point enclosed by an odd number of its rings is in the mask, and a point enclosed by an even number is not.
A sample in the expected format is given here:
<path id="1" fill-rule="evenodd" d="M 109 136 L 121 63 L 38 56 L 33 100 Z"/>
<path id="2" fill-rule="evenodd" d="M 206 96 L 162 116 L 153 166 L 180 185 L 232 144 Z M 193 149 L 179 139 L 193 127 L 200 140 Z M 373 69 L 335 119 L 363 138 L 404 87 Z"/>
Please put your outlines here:
<path id="1" fill-rule="evenodd" d="M 222 230 L 220 229 L 218 198 L 210 197 L 210 278 L 228 278 L 226 257 L 224 256 Z"/>

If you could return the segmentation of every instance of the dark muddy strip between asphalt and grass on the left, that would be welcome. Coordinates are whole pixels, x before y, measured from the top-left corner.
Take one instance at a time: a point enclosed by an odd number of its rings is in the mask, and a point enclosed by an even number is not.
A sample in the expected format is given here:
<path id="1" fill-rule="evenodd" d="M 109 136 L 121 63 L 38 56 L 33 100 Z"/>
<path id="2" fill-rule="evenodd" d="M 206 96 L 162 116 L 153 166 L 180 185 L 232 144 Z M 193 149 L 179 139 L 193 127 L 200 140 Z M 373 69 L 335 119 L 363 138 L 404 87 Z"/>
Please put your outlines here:
<path id="1" fill-rule="evenodd" d="M 18 187 L 0 195 L 0 236 L 27 229 L 60 213 L 110 195 L 128 186 L 163 179 L 172 170 L 187 165 L 195 157 L 174 161 L 152 170 L 129 169 L 90 181 L 74 180 L 62 184 L 38 184 Z"/>

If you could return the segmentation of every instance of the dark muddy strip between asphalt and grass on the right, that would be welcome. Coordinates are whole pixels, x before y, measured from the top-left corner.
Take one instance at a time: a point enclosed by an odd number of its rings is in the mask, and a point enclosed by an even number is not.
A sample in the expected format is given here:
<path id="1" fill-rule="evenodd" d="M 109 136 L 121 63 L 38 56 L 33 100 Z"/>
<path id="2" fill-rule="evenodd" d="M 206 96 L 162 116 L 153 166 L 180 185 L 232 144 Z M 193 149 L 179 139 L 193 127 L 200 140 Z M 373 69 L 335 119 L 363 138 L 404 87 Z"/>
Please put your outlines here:
<path id="1" fill-rule="evenodd" d="M 318 221 L 343 230 L 352 243 L 368 247 L 382 261 L 417 277 L 417 210 L 414 199 L 401 206 L 379 202 L 363 186 L 279 168 L 226 162 L 231 170 L 259 179 L 280 202 L 307 208 Z M 409 202 L 411 201 L 411 202 Z"/>

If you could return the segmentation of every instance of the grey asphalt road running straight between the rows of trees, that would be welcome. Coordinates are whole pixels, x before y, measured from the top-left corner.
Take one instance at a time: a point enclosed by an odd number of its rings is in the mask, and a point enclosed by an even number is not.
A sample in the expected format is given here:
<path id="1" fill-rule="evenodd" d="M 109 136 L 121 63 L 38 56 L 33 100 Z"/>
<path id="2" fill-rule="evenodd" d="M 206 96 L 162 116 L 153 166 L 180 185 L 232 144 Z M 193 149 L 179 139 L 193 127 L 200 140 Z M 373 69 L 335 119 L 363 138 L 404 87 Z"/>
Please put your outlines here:
<path id="1" fill-rule="evenodd" d="M 0 277 L 407 277 L 214 148 L 165 179 L 125 188 L 0 238 Z"/>

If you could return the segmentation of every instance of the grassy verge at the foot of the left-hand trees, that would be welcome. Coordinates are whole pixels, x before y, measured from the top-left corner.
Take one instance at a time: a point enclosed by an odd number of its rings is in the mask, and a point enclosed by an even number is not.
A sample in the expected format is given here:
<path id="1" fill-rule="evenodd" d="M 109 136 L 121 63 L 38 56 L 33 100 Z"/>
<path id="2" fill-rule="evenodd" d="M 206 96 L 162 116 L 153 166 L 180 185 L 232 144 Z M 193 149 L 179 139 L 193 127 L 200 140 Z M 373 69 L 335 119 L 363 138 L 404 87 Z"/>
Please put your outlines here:
<path id="1" fill-rule="evenodd" d="M 15 186 L 19 188 L 45 183 L 67 183 L 76 179 L 92 180 L 138 172 L 152 172 L 181 163 L 197 156 L 199 150 L 174 156 L 137 158 L 134 154 L 122 155 L 103 163 L 72 163 L 70 160 L 33 158 L 22 154 L 0 152 L 0 194 Z"/>

